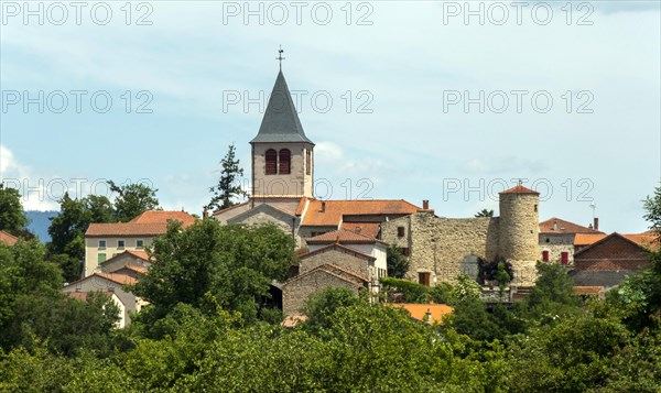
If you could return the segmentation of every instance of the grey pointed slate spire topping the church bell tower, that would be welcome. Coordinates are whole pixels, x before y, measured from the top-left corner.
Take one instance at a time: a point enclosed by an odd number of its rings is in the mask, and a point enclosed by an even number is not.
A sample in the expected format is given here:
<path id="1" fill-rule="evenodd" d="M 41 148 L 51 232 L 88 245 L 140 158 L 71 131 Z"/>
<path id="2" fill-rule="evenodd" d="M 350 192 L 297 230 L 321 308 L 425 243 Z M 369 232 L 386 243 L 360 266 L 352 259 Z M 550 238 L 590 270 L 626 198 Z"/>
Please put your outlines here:
<path id="1" fill-rule="evenodd" d="M 259 142 L 306 142 L 314 144 L 305 137 L 282 70 L 278 73 L 259 133 L 250 141 L 250 143 Z"/>

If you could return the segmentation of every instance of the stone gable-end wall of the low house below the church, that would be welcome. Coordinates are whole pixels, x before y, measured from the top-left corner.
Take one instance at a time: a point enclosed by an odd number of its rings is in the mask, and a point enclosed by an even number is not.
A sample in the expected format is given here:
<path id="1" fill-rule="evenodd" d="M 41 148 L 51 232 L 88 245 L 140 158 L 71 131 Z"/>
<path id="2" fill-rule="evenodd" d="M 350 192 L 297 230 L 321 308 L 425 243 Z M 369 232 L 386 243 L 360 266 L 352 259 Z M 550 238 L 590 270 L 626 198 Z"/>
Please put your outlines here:
<path id="1" fill-rule="evenodd" d="M 282 313 L 285 316 L 301 314 L 305 301 L 310 295 L 325 290 L 326 287 L 347 287 L 356 295 L 364 285 L 358 281 L 343 280 L 334 274 L 317 269 L 305 275 L 300 275 L 284 283 L 282 286 Z"/>

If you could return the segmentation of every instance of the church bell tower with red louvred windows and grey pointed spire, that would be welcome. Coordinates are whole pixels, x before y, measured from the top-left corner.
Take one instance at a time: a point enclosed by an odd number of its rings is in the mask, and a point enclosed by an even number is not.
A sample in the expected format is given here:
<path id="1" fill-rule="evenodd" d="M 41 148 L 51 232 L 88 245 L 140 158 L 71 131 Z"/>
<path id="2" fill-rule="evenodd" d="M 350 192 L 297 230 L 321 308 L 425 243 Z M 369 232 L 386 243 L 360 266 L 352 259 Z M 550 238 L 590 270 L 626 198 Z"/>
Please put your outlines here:
<path id="1" fill-rule="evenodd" d="M 282 50 L 278 59 L 283 59 Z M 250 144 L 253 197 L 312 197 L 314 143 L 305 137 L 282 66 Z"/>

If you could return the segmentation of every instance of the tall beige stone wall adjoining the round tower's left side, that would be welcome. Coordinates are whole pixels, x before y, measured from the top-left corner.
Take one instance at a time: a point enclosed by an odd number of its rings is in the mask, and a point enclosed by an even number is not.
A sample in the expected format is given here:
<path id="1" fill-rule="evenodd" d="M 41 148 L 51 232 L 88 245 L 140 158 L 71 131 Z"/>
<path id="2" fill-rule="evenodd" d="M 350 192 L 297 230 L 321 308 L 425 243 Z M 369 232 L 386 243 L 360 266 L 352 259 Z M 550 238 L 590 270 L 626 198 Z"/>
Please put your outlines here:
<path id="1" fill-rule="evenodd" d="M 404 227 L 404 236 L 398 236 Z M 430 272 L 431 284 L 455 282 L 466 256 L 494 259 L 498 253 L 499 219 L 440 218 L 422 211 L 383 223 L 383 241 L 409 248 L 411 268 L 407 279 Z"/>

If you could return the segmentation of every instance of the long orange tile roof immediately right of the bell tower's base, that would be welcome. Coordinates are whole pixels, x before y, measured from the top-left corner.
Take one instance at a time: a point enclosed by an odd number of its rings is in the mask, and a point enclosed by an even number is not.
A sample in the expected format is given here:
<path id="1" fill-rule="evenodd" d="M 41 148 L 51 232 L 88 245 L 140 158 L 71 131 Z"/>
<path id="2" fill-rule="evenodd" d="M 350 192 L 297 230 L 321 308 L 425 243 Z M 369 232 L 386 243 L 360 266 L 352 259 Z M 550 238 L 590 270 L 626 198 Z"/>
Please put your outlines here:
<path id="1" fill-rule="evenodd" d="M 420 207 L 403 199 L 311 200 L 302 225 L 338 227 L 343 216 L 412 215 Z"/>

